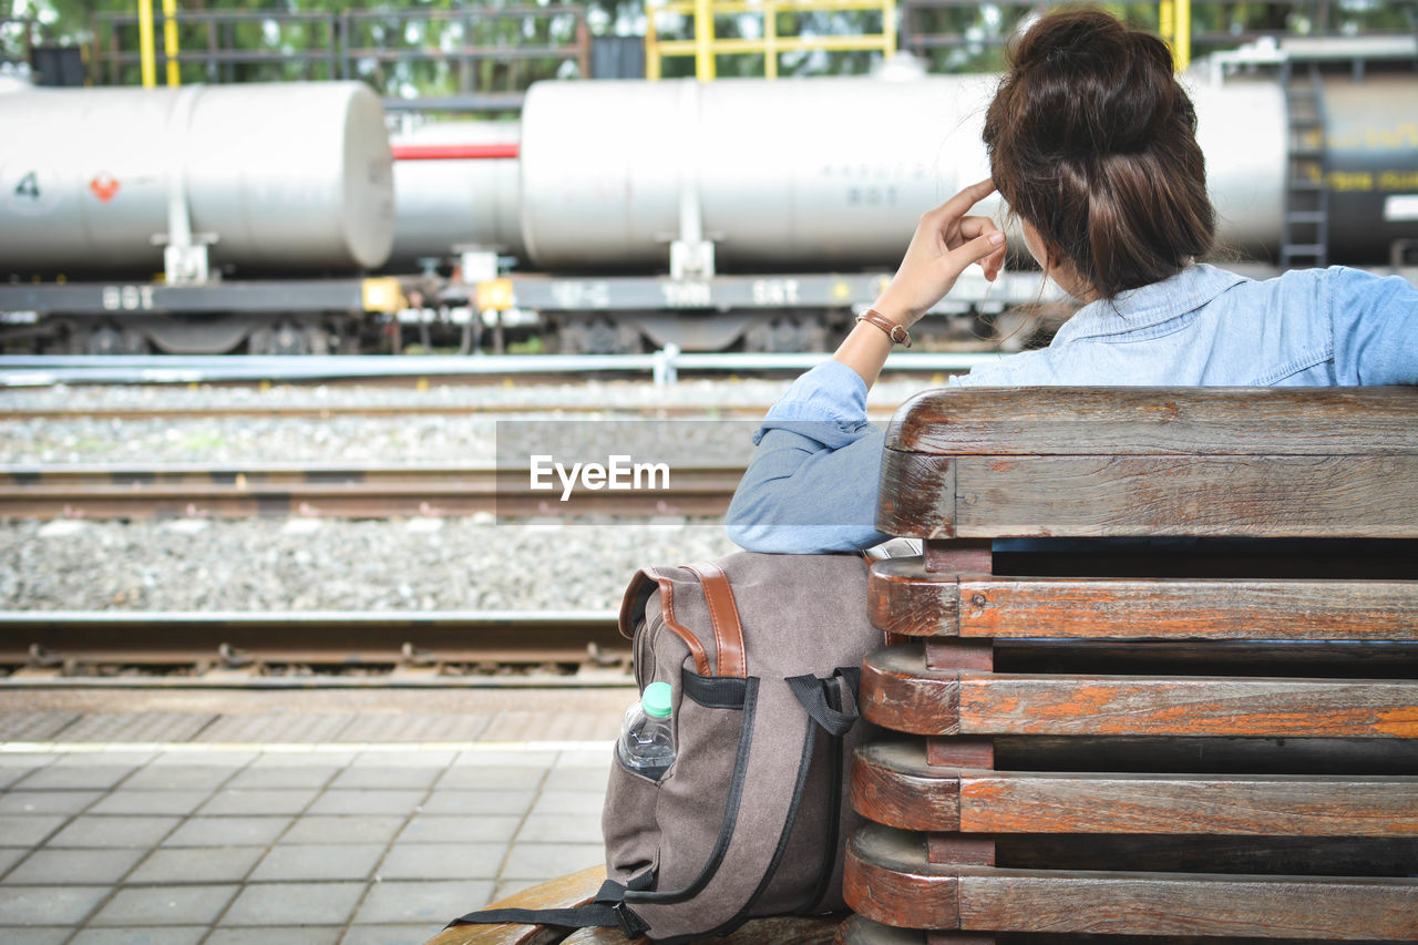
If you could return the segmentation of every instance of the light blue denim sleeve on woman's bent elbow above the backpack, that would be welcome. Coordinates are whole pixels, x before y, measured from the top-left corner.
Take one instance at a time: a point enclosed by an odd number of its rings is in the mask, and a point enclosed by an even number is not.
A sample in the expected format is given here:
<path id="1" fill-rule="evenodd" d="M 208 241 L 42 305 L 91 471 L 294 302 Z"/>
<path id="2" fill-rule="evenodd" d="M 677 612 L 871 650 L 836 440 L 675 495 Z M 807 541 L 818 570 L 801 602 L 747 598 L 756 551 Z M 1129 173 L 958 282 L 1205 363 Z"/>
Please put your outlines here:
<path id="1" fill-rule="evenodd" d="M 866 385 L 837 360 L 798 377 L 753 434 L 757 451 L 733 502 L 729 538 L 747 551 L 807 555 L 871 548 L 882 431 Z"/>

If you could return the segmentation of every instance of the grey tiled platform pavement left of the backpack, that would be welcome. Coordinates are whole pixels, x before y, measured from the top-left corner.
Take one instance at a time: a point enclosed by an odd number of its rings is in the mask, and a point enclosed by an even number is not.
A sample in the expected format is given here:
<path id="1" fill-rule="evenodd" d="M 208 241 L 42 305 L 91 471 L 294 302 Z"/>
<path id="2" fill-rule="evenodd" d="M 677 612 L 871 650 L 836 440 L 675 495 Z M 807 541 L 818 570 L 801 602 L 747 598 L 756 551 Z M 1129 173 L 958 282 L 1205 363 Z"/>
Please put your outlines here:
<path id="1" fill-rule="evenodd" d="M 394 700 L 406 711 L 313 712 L 210 698 L 122 711 L 92 694 L 69 711 L 45 695 L 0 698 L 6 945 L 418 945 L 461 911 L 600 861 L 610 746 L 634 691 L 542 694 L 536 711 L 519 711 L 525 692 L 482 694 L 448 714 L 408 712 L 417 695 Z M 478 735 L 421 741 L 435 718 Z M 224 724 L 328 736 L 201 739 Z M 369 731 L 387 741 L 340 738 Z M 79 741 L 94 732 L 105 741 Z"/>

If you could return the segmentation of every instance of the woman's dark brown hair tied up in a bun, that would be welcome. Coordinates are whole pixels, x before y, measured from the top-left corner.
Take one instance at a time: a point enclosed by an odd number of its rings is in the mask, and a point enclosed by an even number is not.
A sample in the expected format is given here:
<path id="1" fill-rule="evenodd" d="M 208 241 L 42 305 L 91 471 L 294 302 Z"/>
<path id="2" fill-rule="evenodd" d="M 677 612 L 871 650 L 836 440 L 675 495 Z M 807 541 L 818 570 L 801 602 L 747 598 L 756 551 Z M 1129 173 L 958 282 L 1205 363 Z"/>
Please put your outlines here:
<path id="1" fill-rule="evenodd" d="M 1211 248 L 1197 112 L 1171 52 L 1107 13 L 1054 13 L 1015 43 L 984 143 L 1000 196 L 1102 298 Z"/>

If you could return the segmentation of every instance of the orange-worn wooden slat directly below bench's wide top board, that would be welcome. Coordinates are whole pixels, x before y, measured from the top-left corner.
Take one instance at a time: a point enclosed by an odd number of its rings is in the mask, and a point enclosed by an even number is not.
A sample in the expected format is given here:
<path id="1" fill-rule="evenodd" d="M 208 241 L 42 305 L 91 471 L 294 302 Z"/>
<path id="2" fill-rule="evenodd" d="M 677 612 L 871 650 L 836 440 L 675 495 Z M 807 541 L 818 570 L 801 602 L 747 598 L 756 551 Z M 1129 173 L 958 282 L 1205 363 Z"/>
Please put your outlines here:
<path id="1" fill-rule="evenodd" d="M 906 636 L 1418 640 L 1418 580 L 1004 578 L 872 565 L 872 626 Z"/>

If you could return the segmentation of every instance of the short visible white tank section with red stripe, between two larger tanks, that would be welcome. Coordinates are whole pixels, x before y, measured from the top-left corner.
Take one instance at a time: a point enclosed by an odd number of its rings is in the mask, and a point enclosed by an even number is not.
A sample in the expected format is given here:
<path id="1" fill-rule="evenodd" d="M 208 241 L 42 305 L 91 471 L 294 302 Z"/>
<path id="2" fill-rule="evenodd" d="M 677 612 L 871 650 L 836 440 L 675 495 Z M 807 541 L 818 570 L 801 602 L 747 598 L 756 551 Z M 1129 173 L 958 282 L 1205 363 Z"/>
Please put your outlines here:
<path id="1" fill-rule="evenodd" d="M 447 258 L 458 247 L 523 257 L 518 122 L 437 122 L 396 133 L 394 248 L 389 268 Z M 459 149 L 481 156 L 455 156 Z M 410 158 L 410 155 L 423 156 Z"/>

